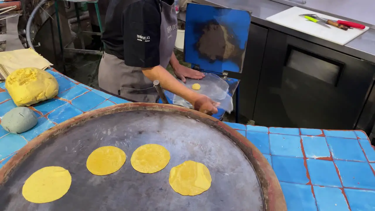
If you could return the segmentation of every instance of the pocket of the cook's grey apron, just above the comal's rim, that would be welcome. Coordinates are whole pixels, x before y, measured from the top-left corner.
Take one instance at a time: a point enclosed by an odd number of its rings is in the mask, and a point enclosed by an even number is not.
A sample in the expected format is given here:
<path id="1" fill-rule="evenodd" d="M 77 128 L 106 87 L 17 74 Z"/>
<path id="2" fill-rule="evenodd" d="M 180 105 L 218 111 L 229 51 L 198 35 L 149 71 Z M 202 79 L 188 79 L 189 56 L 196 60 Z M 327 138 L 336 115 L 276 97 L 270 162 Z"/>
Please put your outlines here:
<path id="1" fill-rule="evenodd" d="M 158 95 L 155 87 L 147 89 L 120 88 L 120 96 L 133 102 L 156 102 Z"/>

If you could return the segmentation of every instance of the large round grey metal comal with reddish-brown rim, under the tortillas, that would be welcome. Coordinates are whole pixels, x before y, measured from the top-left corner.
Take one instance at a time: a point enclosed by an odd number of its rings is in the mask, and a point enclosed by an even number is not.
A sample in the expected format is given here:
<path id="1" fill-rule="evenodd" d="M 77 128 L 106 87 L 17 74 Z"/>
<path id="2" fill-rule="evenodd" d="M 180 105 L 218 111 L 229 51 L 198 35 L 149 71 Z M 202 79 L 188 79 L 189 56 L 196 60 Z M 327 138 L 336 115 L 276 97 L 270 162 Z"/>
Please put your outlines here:
<path id="1" fill-rule="evenodd" d="M 250 138 L 251 139 L 251 138 Z M 134 150 L 147 143 L 171 155 L 165 169 L 135 171 Z M 116 146 L 127 156 L 117 172 L 96 176 L 86 168 L 92 151 Z M 198 196 L 181 196 L 169 185 L 172 167 L 193 160 L 205 164 L 211 187 Z M 42 167 L 61 166 L 72 184 L 61 199 L 28 202 L 22 187 Z M 167 104 L 129 103 L 84 113 L 59 124 L 20 149 L 0 169 L 0 210 L 191 210 L 285 211 L 284 195 L 272 167 L 245 137 L 225 123 L 194 110 Z"/>

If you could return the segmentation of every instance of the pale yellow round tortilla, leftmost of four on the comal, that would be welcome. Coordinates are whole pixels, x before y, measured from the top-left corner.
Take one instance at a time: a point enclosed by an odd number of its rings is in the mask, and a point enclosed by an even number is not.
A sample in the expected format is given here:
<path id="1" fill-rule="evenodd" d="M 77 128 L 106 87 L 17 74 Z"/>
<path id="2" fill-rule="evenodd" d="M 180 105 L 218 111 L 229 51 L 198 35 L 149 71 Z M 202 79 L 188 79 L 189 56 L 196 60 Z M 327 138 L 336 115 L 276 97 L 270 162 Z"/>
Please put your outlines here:
<path id="1" fill-rule="evenodd" d="M 33 203 L 47 203 L 63 197 L 72 184 L 68 170 L 48 166 L 34 172 L 22 187 L 22 195 Z"/>

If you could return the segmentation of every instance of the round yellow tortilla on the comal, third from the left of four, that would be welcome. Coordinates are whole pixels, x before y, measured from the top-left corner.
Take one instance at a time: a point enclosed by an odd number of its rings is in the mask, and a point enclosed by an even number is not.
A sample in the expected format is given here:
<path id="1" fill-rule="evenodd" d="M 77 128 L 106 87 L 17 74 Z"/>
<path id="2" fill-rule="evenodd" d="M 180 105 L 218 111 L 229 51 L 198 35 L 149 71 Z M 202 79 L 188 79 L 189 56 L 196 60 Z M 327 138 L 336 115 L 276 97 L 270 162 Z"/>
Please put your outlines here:
<path id="1" fill-rule="evenodd" d="M 146 144 L 138 147 L 130 158 L 133 168 L 141 173 L 155 173 L 165 168 L 171 156 L 165 147 Z"/>

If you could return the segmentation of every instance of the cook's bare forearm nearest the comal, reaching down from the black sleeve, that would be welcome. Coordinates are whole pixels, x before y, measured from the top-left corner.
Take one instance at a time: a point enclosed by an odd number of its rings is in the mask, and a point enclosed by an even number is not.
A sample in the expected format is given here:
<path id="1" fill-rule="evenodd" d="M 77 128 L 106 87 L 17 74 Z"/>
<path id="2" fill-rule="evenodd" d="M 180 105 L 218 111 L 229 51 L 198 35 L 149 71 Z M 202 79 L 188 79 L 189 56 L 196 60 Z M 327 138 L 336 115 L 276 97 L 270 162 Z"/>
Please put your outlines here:
<path id="1" fill-rule="evenodd" d="M 180 83 L 177 79 L 173 77 L 166 69 L 162 66 L 155 66 L 153 68 L 147 68 L 142 70 L 143 74 L 150 79 L 151 81 L 159 80 L 160 85 L 163 89 L 168 90 L 169 92 L 178 95 L 187 101 L 189 101 L 192 105 L 197 100 L 199 96 L 198 93 L 190 90 L 184 84 Z"/>

